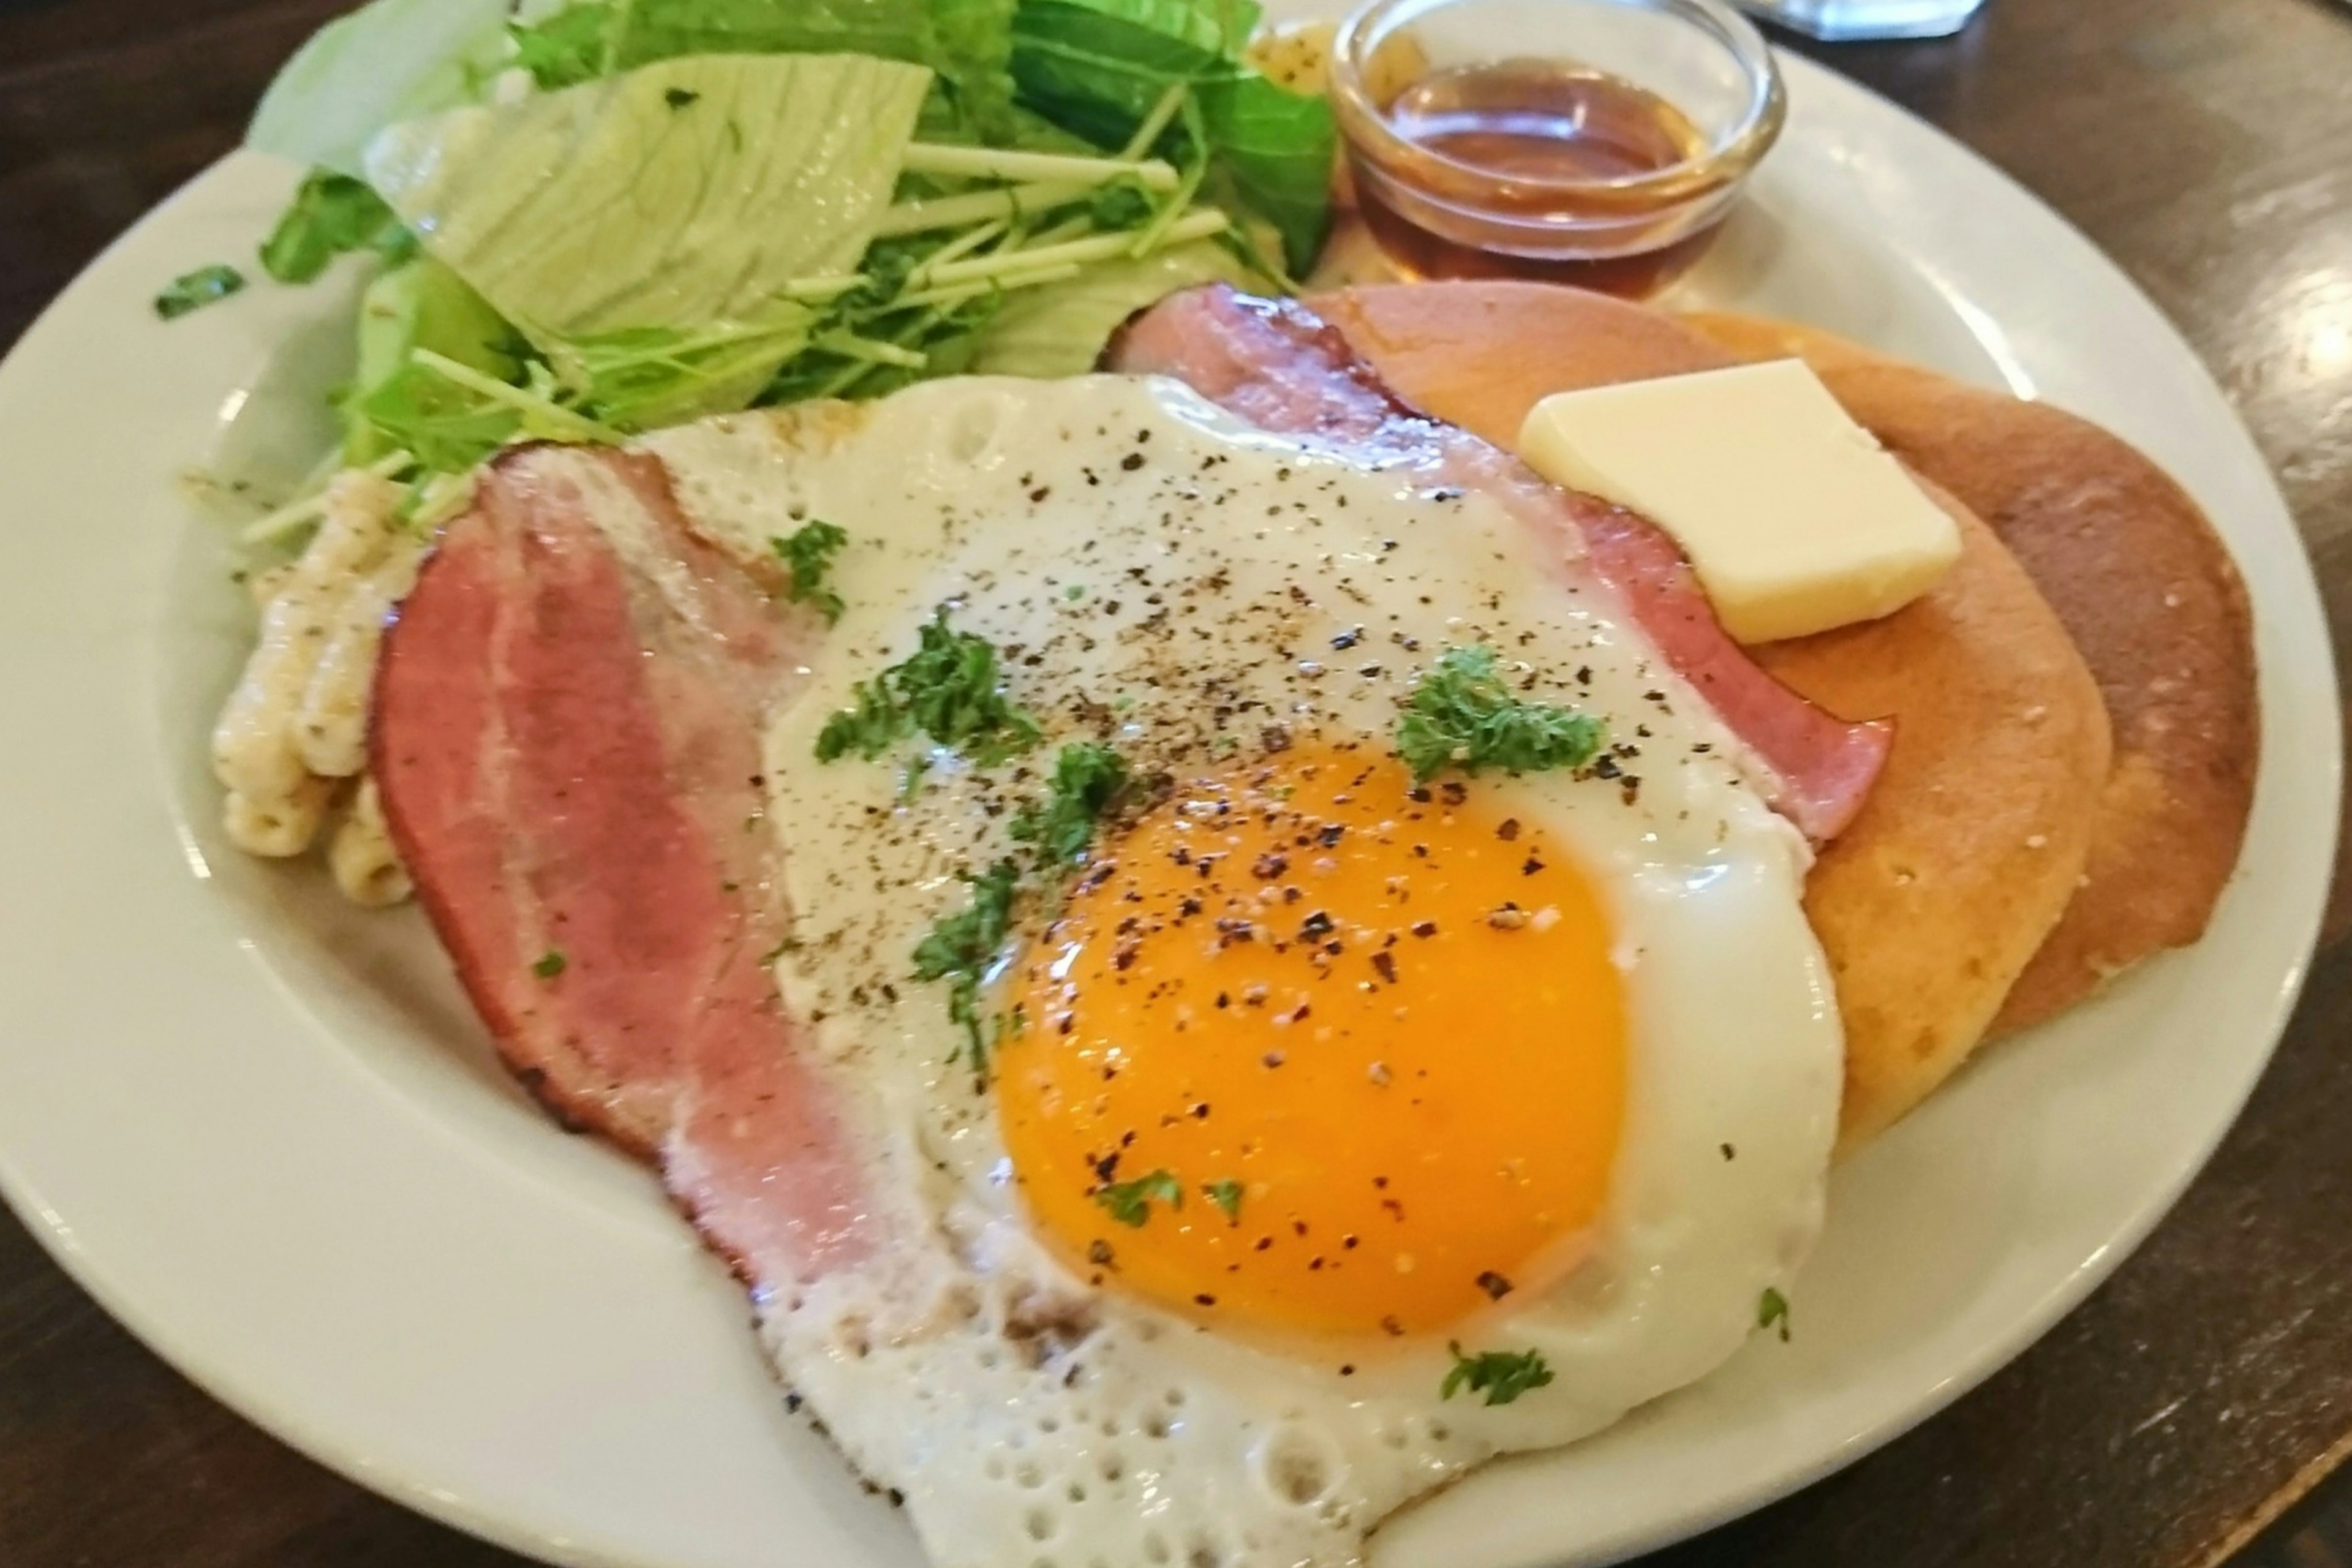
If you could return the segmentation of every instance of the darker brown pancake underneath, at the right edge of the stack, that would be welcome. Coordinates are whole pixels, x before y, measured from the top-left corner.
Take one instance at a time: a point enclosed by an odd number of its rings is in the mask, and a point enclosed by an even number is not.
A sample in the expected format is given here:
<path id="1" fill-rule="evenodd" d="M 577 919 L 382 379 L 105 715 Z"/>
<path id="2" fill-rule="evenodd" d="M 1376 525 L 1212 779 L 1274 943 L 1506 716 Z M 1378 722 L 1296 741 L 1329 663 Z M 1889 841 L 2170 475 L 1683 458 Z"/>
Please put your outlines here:
<path id="1" fill-rule="evenodd" d="M 2114 764 L 2089 882 L 1994 1030 L 2042 1023 L 2194 943 L 2237 865 L 2260 750 L 2246 590 L 2197 503 L 2122 440 L 2046 404 L 1809 327 L 1689 320 L 1740 357 L 1811 362 L 1853 418 L 2002 536 L 2098 679 Z"/>

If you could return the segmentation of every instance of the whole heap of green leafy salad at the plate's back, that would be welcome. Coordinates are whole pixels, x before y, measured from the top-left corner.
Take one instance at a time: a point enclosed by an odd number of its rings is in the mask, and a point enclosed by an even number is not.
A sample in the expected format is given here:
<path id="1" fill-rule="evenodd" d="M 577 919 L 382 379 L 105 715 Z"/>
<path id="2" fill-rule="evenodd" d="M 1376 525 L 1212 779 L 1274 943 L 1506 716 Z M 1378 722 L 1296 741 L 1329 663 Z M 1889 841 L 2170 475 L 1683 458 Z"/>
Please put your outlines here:
<path id="1" fill-rule="evenodd" d="M 515 440 L 1077 374 L 1162 294 L 1287 287 L 1322 244 L 1331 115 L 1244 63 L 1256 21 L 374 0 L 254 115 L 252 146 L 310 167 L 259 261 L 310 282 L 376 256 L 336 463 L 407 484 L 412 515 Z"/>

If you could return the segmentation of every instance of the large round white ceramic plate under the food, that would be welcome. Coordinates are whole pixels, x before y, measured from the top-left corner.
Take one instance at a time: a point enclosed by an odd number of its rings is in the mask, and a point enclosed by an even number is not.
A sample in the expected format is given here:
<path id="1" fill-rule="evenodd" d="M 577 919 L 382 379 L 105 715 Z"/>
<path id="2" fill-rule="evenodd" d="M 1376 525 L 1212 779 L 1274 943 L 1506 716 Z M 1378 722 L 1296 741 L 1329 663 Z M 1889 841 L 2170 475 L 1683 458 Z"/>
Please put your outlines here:
<path id="1" fill-rule="evenodd" d="M 1590 1563 L 1705 1528 L 1926 1418 L 2082 1300 L 2230 1124 L 2286 1020 L 2336 825 L 2319 599 L 2187 346 L 2072 228 L 1891 106 L 1785 61 L 1788 139 L 1689 292 L 2079 409 L 2164 461 L 2253 590 L 2263 785 L 2206 940 L 1990 1051 L 1837 1173 L 1795 1340 L 1399 1519 L 1383 1568 Z M 325 440 L 343 289 L 158 324 L 249 256 L 292 172 L 238 155 L 0 369 L 0 1178 L 148 1345 L 270 1432 L 562 1563 L 913 1568 L 786 1418 L 727 1279 L 649 1178 L 489 1065 L 414 912 L 341 907 L 214 830 L 205 733 L 249 614 L 191 461 Z"/>

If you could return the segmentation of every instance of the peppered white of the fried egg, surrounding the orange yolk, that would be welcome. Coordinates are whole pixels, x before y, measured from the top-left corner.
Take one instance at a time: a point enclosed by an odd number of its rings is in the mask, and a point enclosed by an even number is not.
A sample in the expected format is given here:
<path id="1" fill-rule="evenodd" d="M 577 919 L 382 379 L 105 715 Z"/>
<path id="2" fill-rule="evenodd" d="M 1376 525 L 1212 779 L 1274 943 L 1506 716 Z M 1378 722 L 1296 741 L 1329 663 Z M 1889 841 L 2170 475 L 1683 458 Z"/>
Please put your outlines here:
<path id="1" fill-rule="evenodd" d="M 1733 736 L 1557 541 L 1148 378 L 934 381 L 647 447 L 713 534 L 764 548 L 821 517 L 851 538 L 830 576 L 847 614 L 769 736 L 795 910 L 779 980 L 821 1018 L 877 1201 L 910 1244 L 762 1302 L 762 1333 L 858 1469 L 906 1495 L 938 1563 L 1348 1563 L 1461 1469 L 1705 1375 L 1755 1331 L 1759 1295 L 1788 1291 L 1820 1222 L 1842 1058 L 1799 910 L 1806 851 Z M 941 604 L 1016 649 L 1014 696 L 1049 745 L 1080 738 L 1068 703 L 1089 698 L 1112 705 L 1122 745 L 1197 750 L 1232 722 L 1202 698 L 1211 682 L 1263 703 L 1247 733 L 1378 738 L 1414 675 L 1470 642 L 1552 682 L 1573 670 L 1611 733 L 1649 731 L 1628 762 L 1637 792 L 1505 785 L 1599 889 L 1628 985 L 1625 1128 L 1590 1262 L 1463 1335 L 1541 1349 L 1550 1387 L 1489 1408 L 1439 1399 L 1442 1340 L 1207 1333 L 1089 1288 L 1028 1232 L 943 987 L 908 978 L 915 943 L 967 898 L 957 872 L 1011 849 L 1004 818 L 953 757 L 913 778 L 814 759 L 823 722 Z"/>

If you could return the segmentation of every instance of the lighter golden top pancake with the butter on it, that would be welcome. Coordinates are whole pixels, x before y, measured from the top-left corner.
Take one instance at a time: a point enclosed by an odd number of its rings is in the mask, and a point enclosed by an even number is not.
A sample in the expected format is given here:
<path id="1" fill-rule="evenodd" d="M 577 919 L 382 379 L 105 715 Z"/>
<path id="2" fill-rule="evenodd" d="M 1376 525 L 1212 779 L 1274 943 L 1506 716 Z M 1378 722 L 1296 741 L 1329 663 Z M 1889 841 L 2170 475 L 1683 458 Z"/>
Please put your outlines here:
<path id="1" fill-rule="evenodd" d="M 1392 284 L 1312 303 L 1402 397 L 1505 447 L 1548 393 L 1733 362 L 1672 317 L 1548 284 Z M 1938 501 L 1964 550 L 1929 595 L 1757 649 L 1830 712 L 1896 717 L 1884 776 L 1806 882 L 1846 1020 L 1844 1147 L 1978 1044 L 2074 896 L 2107 776 L 2105 710 L 2074 644 L 2002 543 Z"/>

